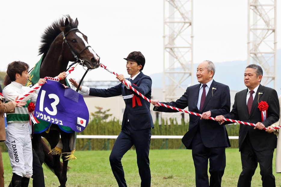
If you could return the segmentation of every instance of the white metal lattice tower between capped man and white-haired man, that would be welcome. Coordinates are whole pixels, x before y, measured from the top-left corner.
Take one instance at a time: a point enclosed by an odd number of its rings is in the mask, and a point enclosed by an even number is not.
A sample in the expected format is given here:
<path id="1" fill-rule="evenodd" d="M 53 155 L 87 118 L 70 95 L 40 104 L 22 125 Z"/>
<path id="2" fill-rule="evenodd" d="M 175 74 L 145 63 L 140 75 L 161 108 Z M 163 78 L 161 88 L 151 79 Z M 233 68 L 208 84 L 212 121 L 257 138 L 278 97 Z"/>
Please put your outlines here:
<path id="1" fill-rule="evenodd" d="M 164 100 L 175 101 L 193 84 L 193 0 L 164 0 L 163 38 Z"/>

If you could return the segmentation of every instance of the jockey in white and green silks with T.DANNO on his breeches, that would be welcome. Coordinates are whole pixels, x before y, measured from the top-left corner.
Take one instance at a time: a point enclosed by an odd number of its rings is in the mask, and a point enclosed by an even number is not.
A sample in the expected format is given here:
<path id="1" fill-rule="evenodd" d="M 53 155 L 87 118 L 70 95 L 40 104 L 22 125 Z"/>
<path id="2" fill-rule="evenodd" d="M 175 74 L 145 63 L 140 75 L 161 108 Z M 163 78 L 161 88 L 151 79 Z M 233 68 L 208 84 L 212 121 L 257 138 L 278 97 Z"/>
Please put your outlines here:
<path id="1" fill-rule="evenodd" d="M 29 65 L 15 61 L 8 65 L 7 75 L 5 77 L 3 96 L 7 101 L 13 101 L 18 95 L 23 97 L 30 91 L 26 87 L 29 78 Z M 65 78 L 65 74 L 59 75 Z M 37 84 L 46 83 L 45 79 L 39 79 Z M 32 176 L 32 144 L 30 135 L 32 133 L 29 123 L 28 104 L 36 103 L 36 91 L 23 98 L 27 105 L 23 108 L 16 108 L 14 113 L 7 113 L 7 128 L 5 144 L 8 148 L 8 153 L 13 169 L 13 176 L 9 186 L 12 187 L 27 187 L 29 179 Z"/>

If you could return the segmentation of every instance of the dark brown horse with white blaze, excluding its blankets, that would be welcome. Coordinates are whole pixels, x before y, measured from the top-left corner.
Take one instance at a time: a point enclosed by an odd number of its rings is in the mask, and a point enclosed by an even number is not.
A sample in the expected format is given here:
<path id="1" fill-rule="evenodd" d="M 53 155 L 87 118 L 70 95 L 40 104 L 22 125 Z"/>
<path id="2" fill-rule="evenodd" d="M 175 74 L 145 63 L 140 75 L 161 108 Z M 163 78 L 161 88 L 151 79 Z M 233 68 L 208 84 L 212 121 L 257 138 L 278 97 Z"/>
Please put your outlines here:
<path id="1" fill-rule="evenodd" d="M 74 21 L 69 15 L 65 15 L 45 29 L 41 36 L 42 44 L 39 48 L 39 55 L 42 55 L 40 78 L 55 77 L 59 73 L 66 71 L 69 61 L 79 62 L 88 70 L 99 67 L 100 57 L 88 45 L 87 36 L 80 32 L 77 27 L 77 18 Z M 61 80 L 60 83 L 65 84 L 66 81 Z M 68 133 L 59 128 L 58 125 L 51 124 L 48 133 L 34 134 L 32 138 L 33 149 L 36 151 L 41 164 L 45 162 L 54 172 L 59 179 L 59 187 L 65 187 L 66 185 L 68 169 L 66 153 L 71 151 L 69 142 L 73 133 L 75 132 Z M 54 149 L 60 140 L 63 144 L 61 153 L 52 155 L 53 160 L 51 162 L 50 160 L 47 161 L 48 152 L 46 152 L 41 137 L 45 137 L 51 149 Z M 60 157 L 63 160 L 62 166 Z"/>

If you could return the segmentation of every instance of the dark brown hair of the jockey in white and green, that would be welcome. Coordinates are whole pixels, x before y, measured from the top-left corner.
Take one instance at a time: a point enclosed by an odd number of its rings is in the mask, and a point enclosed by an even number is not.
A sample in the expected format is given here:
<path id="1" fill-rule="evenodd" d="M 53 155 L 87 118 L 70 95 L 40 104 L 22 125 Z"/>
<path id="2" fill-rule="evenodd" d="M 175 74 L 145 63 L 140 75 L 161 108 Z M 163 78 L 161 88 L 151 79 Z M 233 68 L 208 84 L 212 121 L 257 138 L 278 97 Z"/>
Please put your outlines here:
<path id="1" fill-rule="evenodd" d="M 11 84 L 12 81 L 16 80 L 16 74 L 22 75 L 23 71 L 28 71 L 29 65 L 25 62 L 14 61 L 7 67 L 7 75 L 5 76 L 4 85 Z"/>

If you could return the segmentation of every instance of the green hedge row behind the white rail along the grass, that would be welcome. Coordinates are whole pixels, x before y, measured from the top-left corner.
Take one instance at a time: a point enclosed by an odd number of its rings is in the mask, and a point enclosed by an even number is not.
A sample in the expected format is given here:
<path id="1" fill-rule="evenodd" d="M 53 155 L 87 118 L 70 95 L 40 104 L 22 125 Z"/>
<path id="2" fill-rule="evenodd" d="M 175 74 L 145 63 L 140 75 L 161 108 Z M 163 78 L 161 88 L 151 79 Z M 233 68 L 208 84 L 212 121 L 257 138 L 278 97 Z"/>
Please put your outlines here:
<path id="1" fill-rule="evenodd" d="M 168 122 L 169 120 L 169 122 Z M 152 129 L 152 135 L 184 135 L 188 130 L 189 123 L 182 121 L 181 124 L 177 124 L 176 120 L 173 119 L 162 119 L 162 125 L 156 121 Z M 168 125 L 169 124 L 169 125 Z M 239 124 L 238 125 L 226 125 L 227 133 L 229 136 L 238 136 L 239 134 Z M 113 119 L 108 122 L 100 119 L 93 118 L 89 123 L 87 128 L 77 133 L 77 135 L 118 135 L 121 131 L 121 122 L 119 120 Z M 112 149 L 115 139 L 77 139 L 76 149 L 77 150 L 101 150 L 101 149 Z M 231 147 L 238 147 L 238 140 L 230 140 Z M 185 149 L 182 145 L 181 139 L 151 139 L 150 149 Z M 7 147 L 4 142 L 0 143 L 0 147 L 3 152 L 7 151 Z M 134 149 L 134 147 L 132 147 Z"/>

